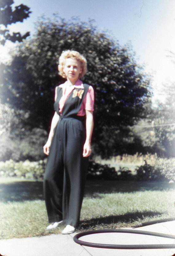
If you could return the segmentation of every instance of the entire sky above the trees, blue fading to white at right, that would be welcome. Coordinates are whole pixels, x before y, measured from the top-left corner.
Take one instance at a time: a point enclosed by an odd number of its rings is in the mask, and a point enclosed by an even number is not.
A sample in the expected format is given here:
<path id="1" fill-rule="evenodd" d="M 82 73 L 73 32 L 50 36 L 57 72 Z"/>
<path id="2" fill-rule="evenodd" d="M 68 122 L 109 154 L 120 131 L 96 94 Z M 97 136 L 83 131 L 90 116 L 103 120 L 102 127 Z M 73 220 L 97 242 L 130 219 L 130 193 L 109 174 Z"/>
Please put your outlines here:
<path id="1" fill-rule="evenodd" d="M 156 96 L 162 83 L 175 80 L 175 64 L 166 57 L 167 50 L 175 52 L 174 0 L 14 0 L 14 6 L 21 3 L 29 6 L 32 14 L 11 29 L 22 33 L 29 30 L 33 35 L 38 16 L 52 17 L 56 12 L 65 19 L 95 19 L 98 29 L 111 31 L 121 45 L 131 42 L 138 63 L 145 63 L 146 72 L 154 75 Z"/>

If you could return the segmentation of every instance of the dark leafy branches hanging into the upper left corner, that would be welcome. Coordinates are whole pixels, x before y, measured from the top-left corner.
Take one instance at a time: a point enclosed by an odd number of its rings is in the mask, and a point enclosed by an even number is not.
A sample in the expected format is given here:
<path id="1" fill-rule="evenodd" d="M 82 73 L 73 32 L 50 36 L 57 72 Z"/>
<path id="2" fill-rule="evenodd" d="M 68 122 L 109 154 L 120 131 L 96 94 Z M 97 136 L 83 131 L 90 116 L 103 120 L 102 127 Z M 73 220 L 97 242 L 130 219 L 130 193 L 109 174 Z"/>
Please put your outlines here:
<path id="1" fill-rule="evenodd" d="M 15 6 L 15 9 L 12 10 L 11 5 L 13 3 L 13 0 L 0 0 L 0 44 L 2 45 L 5 44 L 6 40 L 22 42 L 23 39 L 30 35 L 29 32 L 24 35 L 21 35 L 20 32 L 10 35 L 9 30 L 6 29 L 7 26 L 12 23 L 23 22 L 31 13 L 31 11 L 29 11 L 30 8 L 23 4 Z M 5 29 L 2 25 L 5 26 Z"/>

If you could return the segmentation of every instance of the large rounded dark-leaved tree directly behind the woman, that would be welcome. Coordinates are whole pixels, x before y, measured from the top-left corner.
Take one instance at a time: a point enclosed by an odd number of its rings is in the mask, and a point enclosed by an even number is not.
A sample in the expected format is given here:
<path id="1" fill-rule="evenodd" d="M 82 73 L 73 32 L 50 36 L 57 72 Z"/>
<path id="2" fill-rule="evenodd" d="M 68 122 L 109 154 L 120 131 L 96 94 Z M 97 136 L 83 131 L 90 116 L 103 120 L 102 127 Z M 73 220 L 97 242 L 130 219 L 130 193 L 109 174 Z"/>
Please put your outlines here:
<path id="1" fill-rule="evenodd" d="M 95 152 L 106 157 L 125 152 L 130 143 L 128 127 L 147 114 L 150 81 L 137 65 L 131 47 L 121 47 L 91 21 L 39 20 L 33 39 L 25 40 L 11 65 L 5 67 L 5 102 L 29 113 L 25 124 L 49 130 L 54 90 L 63 82 L 58 58 L 67 49 L 87 58 L 83 81 L 95 89 Z"/>

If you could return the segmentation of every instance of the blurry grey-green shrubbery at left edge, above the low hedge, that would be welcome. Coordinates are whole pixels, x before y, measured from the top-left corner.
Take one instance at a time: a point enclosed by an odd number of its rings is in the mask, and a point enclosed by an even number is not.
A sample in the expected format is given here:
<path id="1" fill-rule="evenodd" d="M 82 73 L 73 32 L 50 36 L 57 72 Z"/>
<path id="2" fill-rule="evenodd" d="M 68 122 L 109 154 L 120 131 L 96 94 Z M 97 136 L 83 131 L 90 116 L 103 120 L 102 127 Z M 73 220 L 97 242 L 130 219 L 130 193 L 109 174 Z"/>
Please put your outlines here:
<path id="1" fill-rule="evenodd" d="M 24 125 L 28 113 L 22 109 L 0 104 L 0 161 L 39 161 L 45 158 L 43 145 L 47 132 Z"/>

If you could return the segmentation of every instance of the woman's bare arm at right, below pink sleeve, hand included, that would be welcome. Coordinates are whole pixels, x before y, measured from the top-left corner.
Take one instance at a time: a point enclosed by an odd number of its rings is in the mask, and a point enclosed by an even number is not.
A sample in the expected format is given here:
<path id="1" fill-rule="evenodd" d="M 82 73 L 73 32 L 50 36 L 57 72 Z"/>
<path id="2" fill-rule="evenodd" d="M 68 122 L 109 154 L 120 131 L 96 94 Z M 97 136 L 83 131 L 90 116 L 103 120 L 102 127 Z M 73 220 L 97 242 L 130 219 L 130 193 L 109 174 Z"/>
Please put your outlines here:
<path id="1" fill-rule="evenodd" d="M 91 137 L 93 126 L 93 111 L 86 110 L 86 141 L 83 148 L 83 157 L 87 157 L 91 154 Z"/>

